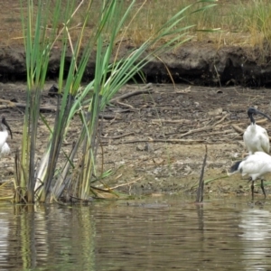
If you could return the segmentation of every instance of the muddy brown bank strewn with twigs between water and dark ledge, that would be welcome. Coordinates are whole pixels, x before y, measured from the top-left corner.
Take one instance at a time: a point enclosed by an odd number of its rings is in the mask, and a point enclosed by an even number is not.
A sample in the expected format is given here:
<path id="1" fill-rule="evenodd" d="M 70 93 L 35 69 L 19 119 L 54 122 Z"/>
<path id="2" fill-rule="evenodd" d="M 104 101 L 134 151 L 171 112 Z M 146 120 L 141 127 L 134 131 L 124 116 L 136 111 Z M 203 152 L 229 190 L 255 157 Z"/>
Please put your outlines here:
<path id="1" fill-rule="evenodd" d="M 48 82 L 42 96 L 42 105 L 55 107 L 56 98 L 48 97 Z M 133 92 L 144 86 L 126 85 L 119 93 Z M 24 83 L 1 83 L 0 98 L 25 102 Z M 249 184 L 240 175 L 225 178 L 226 170 L 244 152 L 242 135 L 249 119 L 249 106 L 271 116 L 269 89 L 242 87 L 207 88 L 189 85 L 152 84 L 150 93 L 115 101 L 103 113 L 104 170 L 113 174 L 105 182 L 119 186 L 117 191 L 132 194 L 161 192 L 195 192 L 201 173 L 201 164 L 208 146 L 204 179 L 209 194 L 248 194 Z M 20 146 L 23 127 L 23 107 L 2 103 L 1 113 L 10 124 L 14 138 L 8 139 L 12 154 L 2 158 L 1 181 L 14 178 L 14 153 Z M 5 107 L 6 106 L 6 107 Z M 43 113 L 51 125 L 54 112 Z M 271 123 L 257 123 L 271 131 Z M 75 117 L 64 150 L 69 152 L 79 135 L 79 118 Z M 37 155 L 41 156 L 48 142 L 47 127 L 40 122 Z M 101 164 L 101 148 L 98 164 Z M 133 183 L 130 183 L 133 182 Z M 130 183 L 127 185 L 127 183 Z M 260 189 L 257 190 L 259 192 Z M 266 189 L 268 192 L 268 188 Z"/>

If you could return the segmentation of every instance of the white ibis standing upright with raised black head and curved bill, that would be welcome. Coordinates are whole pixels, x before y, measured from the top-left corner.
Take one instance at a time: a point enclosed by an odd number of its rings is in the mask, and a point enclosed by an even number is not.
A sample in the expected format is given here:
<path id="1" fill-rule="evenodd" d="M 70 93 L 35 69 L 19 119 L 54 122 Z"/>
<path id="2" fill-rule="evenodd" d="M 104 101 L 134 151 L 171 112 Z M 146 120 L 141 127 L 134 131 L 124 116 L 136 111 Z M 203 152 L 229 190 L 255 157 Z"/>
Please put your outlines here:
<path id="1" fill-rule="evenodd" d="M 254 154 L 255 152 L 265 152 L 266 154 L 269 154 L 269 136 L 267 135 L 265 128 L 257 126 L 253 115 L 262 115 L 271 121 L 270 117 L 258 111 L 256 108 L 248 108 L 248 117 L 250 118 L 251 124 L 243 135 L 245 145 L 248 148 L 248 153 Z"/>

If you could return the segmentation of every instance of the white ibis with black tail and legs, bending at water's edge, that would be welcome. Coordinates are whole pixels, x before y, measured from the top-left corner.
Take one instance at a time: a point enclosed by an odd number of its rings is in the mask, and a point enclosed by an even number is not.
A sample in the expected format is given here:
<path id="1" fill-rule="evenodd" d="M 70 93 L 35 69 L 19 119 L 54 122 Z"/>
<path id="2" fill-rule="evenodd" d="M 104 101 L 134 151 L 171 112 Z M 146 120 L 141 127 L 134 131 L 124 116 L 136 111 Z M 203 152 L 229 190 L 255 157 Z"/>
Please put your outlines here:
<path id="1" fill-rule="evenodd" d="M 244 160 L 238 161 L 230 168 L 229 175 L 241 173 L 242 176 L 249 175 L 249 181 L 251 181 L 251 193 L 252 201 L 254 200 L 254 182 L 257 179 L 261 180 L 261 189 L 266 198 L 266 192 L 264 188 L 264 174 L 271 173 L 271 156 L 263 152 L 256 152 L 255 154 L 249 154 Z"/>

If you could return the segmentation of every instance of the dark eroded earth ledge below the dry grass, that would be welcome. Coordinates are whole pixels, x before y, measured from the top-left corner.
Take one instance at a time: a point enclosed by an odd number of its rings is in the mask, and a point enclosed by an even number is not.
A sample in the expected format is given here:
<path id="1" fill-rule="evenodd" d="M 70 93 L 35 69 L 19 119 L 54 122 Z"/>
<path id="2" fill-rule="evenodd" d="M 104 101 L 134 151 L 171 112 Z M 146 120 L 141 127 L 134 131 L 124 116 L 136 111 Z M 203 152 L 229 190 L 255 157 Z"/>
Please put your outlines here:
<path id="1" fill-rule="evenodd" d="M 123 56 L 131 49 L 121 47 Z M 48 79 L 56 79 L 60 67 L 61 51 L 53 49 L 49 63 Z M 251 47 L 223 46 L 212 42 L 187 42 L 178 49 L 164 53 L 164 61 L 150 61 L 143 72 L 147 82 L 172 83 L 166 67 L 175 83 L 199 86 L 269 87 L 271 85 L 271 55 Z M 84 81 L 93 79 L 95 58 L 89 60 Z M 70 55 L 66 57 L 67 70 Z M 0 48 L 0 81 L 25 81 L 25 54 L 23 46 Z"/>

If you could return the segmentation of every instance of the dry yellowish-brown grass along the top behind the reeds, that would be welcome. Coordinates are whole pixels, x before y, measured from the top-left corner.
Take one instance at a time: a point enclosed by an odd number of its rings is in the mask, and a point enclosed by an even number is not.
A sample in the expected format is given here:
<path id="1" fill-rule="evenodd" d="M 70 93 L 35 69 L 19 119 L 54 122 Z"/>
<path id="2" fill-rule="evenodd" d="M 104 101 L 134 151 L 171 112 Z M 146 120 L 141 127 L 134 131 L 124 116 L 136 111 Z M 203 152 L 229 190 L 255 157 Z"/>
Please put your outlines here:
<path id="1" fill-rule="evenodd" d="M 26 2 L 26 0 L 23 0 L 25 7 Z M 125 33 L 126 41 L 131 45 L 136 46 L 144 42 L 173 14 L 192 3 L 190 0 L 175 0 L 173 3 L 168 0 L 137 0 L 134 7 L 135 13 L 144 2 L 145 6 L 137 14 L 136 19 L 122 31 L 122 33 Z M 129 3 L 130 1 L 127 0 L 126 5 Z M 100 5 L 100 1 L 94 0 L 93 15 L 91 15 L 91 21 L 88 23 L 86 39 L 95 29 L 98 20 L 98 13 L 95 10 L 98 5 Z M 0 14 L 0 46 L 23 44 L 20 1 L 2 0 L 0 1 L 0 9 L 2 11 Z M 132 19 L 134 14 L 131 14 L 129 20 Z M 257 45 L 263 50 L 268 50 L 269 41 L 271 41 L 271 33 L 269 32 L 271 26 L 270 14 L 271 2 L 269 0 L 219 0 L 218 5 L 214 8 L 204 13 L 189 15 L 178 27 L 196 24 L 196 28 L 187 33 L 187 36 L 196 42 L 211 41 L 218 47 L 224 45 Z M 84 16 L 84 9 L 82 9 L 72 19 L 72 29 L 70 30 L 72 37 L 77 37 Z M 210 28 L 220 28 L 221 31 L 217 33 L 196 31 L 196 29 Z M 50 31 L 50 26 L 48 31 Z M 266 44 L 268 44 L 267 49 Z"/>

